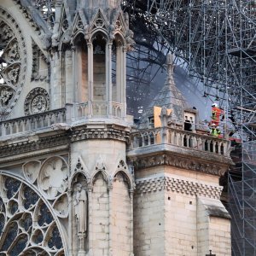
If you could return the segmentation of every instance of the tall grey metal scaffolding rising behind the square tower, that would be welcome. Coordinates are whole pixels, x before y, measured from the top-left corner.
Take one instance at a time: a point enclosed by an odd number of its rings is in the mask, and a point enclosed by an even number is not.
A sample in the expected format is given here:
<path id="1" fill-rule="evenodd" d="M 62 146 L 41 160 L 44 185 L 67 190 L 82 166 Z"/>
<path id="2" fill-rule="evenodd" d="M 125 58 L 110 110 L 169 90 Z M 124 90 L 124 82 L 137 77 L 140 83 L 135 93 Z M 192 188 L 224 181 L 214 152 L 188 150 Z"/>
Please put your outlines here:
<path id="1" fill-rule="evenodd" d="M 256 1 L 124 0 L 123 8 L 135 38 L 143 31 L 175 53 L 240 136 L 229 175 L 232 253 L 256 255 Z"/>

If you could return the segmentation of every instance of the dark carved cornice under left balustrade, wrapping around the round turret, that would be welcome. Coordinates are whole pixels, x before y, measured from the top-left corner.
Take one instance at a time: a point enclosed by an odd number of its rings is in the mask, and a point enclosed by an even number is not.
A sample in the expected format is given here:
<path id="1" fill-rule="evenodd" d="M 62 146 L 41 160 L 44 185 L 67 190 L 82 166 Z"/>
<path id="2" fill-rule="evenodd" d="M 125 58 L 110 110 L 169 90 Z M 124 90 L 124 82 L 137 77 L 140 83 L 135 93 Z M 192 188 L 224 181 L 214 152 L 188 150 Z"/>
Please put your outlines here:
<path id="1" fill-rule="evenodd" d="M 129 131 L 115 128 L 113 125 L 103 125 L 103 128 L 88 128 L 86 125 L 76 127 L 67 131 L 49 131 L 44 130 L 34 133 L 32 136 L 20 136 L 2 140 L 0 143 L 0 159 L 11 155 L 18 157 L 18 154 L 35 152 L 44 148 L 49 151 L 55 150 L 55 147 L 69 145 L 73 142 L 89 139 L 113 139 L 127 142 Z"/>

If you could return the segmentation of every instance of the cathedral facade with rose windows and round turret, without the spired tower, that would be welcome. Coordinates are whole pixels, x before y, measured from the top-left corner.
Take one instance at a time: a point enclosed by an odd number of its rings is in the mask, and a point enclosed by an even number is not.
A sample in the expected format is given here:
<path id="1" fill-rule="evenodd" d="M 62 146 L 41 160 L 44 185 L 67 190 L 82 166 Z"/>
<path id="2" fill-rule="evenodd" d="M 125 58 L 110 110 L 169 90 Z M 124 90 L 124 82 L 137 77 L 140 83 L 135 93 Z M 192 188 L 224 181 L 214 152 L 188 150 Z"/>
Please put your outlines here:
<path id="1" fill-rule="evenodd" d="M 1 1 L 1 252 L 132 255 L 128 22 L 120 1 Z"/>

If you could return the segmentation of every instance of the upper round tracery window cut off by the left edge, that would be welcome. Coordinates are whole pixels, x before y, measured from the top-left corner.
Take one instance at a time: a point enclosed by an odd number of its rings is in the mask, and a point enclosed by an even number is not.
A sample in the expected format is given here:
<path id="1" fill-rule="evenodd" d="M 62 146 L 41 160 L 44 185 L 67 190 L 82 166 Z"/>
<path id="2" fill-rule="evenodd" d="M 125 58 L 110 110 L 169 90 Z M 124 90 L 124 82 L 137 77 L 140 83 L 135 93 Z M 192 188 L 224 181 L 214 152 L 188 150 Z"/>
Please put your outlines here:
<path id="1" fill-rule="evenodd" d="M 0 116 L 3 119 L 20 95 L 26 73 L 26 49 L 15 19 L 0 8 Z"/>

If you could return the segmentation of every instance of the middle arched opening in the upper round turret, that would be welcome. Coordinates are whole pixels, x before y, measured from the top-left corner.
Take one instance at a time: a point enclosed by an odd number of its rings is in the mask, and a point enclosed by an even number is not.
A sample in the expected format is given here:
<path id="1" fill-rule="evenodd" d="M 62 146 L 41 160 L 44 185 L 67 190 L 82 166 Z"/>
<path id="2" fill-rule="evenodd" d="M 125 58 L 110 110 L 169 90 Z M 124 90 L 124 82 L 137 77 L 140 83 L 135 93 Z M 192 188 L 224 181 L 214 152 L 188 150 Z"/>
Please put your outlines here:
<path id="1" fill-rule="evenodd" d="M 93 101 L 106 101 L 106 38 L 97 32 L 93 38 Z"/>

